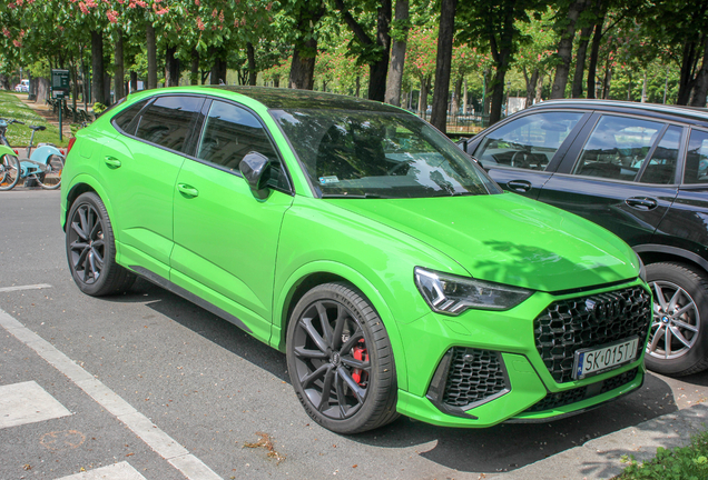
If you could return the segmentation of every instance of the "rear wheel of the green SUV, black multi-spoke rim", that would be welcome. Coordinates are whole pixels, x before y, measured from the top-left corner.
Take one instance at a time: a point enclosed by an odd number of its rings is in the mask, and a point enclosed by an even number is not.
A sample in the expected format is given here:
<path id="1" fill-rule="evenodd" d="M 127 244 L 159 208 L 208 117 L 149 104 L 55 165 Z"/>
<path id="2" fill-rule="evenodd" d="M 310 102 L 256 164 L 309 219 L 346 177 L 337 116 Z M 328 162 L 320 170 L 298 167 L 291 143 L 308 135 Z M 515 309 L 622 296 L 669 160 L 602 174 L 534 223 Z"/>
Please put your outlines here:
<path id="1" fill-rule="evenodd" d="M 136 276 L 116 263 L 116 241 L 108 212 L 94 192 L 71 204 L 66 226 L 67 260 L 73 281 L 89 296 L 125 292 Z"/>

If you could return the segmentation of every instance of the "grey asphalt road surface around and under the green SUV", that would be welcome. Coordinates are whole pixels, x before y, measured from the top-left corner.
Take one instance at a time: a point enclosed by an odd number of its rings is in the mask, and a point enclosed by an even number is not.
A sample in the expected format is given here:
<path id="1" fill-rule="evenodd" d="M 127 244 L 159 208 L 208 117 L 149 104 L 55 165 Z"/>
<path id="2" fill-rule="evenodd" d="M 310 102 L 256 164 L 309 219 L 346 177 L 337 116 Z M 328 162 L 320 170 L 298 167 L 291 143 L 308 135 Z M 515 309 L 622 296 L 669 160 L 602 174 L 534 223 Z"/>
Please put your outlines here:
<path id="1" fill-rule="evenodd" d="M 185 478 L 149 438 L 146 443 L 145 432 L 136 434 L 81 382 L 40 357 L 32 346 L 42 339 L 223 479 L 503 478 L 708 398 L 708 373 L 681 381 L 648 376 L 639 392 L 558 422 L 464 430 L 401 418 L 341 437 L 306 416 L 285 357 L 225 320 L 142 280 L 125 296 L 82 294 L 67 267 L 59 199 L 60 192 L 42 190 L 0 192 L 0 310 L 6 323 L 26 327 L 0 328 L 0 479 L 92 479 L 99 477 L 91 472 L 112 464 L 128 472 L 112 478 Z M 37 284 L 50 287 L 9 290 Z M 37 341 L 24 343 L 11 331 Z M 3 427 L 3 394 L 32 382 L 65 413 Z M 269 444 L 246 447 L 263 439 Z"/>

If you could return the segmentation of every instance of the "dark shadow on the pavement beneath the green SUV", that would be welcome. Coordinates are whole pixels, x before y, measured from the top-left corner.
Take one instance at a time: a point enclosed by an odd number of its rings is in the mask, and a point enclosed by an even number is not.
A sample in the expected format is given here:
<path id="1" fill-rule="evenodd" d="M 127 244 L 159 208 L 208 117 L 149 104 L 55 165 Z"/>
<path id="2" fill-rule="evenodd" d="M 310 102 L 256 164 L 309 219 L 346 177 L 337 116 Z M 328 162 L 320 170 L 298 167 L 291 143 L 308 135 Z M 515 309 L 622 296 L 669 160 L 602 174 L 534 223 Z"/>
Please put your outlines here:
<path id="1" fill-rule="evenodd" d="M 220 346 L 237 357 L 289 383 L 285 356 L 234 324 L 145 280 L 138 280 L 125 296 L 106 297 L 118 303 L 140 302 Z M 695 376 L 700 384 L 708 376 Z M 435 427 L 400 418 L 378 430 L 350 437 L 368 446 L 403 449 L 462 472 L 511 471 L 574 447 L 677 411 L 670 386 L 647 374 L 636 392 L 596 410 L 555 422 L 507 423 L 488 429 Z"/>

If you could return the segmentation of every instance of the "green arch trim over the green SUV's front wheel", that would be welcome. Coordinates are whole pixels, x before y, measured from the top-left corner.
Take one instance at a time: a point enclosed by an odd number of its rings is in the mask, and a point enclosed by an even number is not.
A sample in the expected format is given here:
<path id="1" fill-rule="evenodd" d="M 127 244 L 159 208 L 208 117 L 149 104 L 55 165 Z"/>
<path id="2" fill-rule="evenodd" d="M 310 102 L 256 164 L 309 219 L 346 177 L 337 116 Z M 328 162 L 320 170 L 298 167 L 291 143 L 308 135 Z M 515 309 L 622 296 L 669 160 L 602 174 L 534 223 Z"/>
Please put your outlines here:
<path id="1" fill-rule="evenodd" d="M 395 319 L 389 308 L 386 300 L 368 279 L 356 270 L 333 261 L 316 261 L 297 269 L 285 282 L 279 297 L 275 299 L 273 314 L 273 331 L 271 333 L 271 346 L 285 351 L 285 337 L 289 317 L 299 299 L 311 289 L 318 284 L 342 281 L 352 284 L 360 290 L 386 327 L 391 348 L 393 349 L 394 364 L 399 388 L 407 388 L 407 371 L 405 368 L 405 357 L 403 344 L 395 326 Z"/>

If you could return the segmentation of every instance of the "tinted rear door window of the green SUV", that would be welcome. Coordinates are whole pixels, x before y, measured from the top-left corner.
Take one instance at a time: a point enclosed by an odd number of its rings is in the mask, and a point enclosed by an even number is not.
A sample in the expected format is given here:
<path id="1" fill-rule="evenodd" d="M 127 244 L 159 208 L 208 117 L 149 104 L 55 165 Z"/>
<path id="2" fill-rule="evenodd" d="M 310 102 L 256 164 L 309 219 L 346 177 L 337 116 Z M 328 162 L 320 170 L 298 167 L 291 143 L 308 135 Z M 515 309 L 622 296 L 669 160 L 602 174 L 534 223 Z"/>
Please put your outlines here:
<path id="1" fill-rule="evenodd" d="M 184 152 L 203 103 L 199 97 L 160 97 L 142 112 L 136 137 Z"/>

